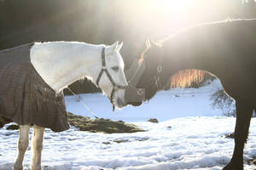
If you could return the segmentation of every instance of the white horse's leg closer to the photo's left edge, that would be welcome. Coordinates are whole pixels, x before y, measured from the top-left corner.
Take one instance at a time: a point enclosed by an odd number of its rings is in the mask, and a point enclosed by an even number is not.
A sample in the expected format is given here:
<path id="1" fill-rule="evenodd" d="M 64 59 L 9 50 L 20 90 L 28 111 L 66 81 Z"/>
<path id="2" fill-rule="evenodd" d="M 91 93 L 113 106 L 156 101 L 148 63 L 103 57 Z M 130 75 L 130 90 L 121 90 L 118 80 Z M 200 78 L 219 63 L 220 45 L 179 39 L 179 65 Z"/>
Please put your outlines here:
<path id="1" fill-rule="evenodd" d="M 23 169 L 24 155 L 28 146 L 30 125 L 20 125 L 20 137 L 18 141 L 18 156 L 15 161 L 14 170 Z"/>

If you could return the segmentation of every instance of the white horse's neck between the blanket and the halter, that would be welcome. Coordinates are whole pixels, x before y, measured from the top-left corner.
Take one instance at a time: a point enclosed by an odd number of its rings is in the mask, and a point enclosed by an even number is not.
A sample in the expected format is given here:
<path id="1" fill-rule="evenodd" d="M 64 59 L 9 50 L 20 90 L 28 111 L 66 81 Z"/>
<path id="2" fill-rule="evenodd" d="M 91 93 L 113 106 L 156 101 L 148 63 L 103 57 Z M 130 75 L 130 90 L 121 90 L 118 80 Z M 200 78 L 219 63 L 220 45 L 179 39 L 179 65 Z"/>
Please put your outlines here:
<path id="1" fill-rule="evenodd" d="M 94 81 L 102 66 L 102 45 L 82 42 L 35 43 L 31 49 L 31 62 L 38 74 L 59 92 L 81 77 Z"/>

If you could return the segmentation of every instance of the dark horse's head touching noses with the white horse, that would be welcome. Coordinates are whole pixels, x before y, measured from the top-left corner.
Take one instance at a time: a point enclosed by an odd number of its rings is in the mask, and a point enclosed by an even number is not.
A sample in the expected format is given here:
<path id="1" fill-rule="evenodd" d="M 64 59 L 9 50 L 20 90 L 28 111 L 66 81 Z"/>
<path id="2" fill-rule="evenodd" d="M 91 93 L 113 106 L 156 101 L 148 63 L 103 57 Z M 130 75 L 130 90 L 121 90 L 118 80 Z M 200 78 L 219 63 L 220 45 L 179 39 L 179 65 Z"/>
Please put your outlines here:
<path id="1" fill-rule="evenodd" d="M 129 86 L 125 89 L 125 102 L 129 105 L 141 105 L 151 99 L 160 87 L 162 49 L 160 44 L 146 41 L 141 59 L 134 61 L 130 70 L 125 71 Z"/>

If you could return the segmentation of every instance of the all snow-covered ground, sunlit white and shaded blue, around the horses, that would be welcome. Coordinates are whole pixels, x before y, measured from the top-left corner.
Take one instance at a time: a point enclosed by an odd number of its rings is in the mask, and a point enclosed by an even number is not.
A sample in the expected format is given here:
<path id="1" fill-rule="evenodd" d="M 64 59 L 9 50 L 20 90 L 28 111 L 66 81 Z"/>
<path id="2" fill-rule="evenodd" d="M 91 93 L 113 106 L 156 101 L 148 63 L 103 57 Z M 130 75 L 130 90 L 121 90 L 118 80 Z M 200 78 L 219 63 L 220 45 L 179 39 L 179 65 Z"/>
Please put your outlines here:
<path id="1" fill-rule="evenodd" d="M 102 94 L 83 94 L 83 101 L 100 117 L 134 122 L 143 133 L 104 134 L 71 128 L 62 133 L 45 130 L 42 166 L 44 170 L 219 170 L 230 161 L 234 142 L 224 138 L 234 130 L 236 119 L 212 109 L 210 94 L 218 82 L 199 89 L 160 92 L 149 104 L 126 107 L 112 113 Z M 67 110 L 88 113 L 73 96 L 67 96 Z M 145 122 L 150 117 L 160 123 Z M 16 156 L 18 131 L 0 129 L 0 170 L 11 169 Z M 256 157 L 256 119 L 244 154 Z M 32 153 L 26 152 L 25 169 Z M 255 169 L 246 165 L 247 169 Z"/>

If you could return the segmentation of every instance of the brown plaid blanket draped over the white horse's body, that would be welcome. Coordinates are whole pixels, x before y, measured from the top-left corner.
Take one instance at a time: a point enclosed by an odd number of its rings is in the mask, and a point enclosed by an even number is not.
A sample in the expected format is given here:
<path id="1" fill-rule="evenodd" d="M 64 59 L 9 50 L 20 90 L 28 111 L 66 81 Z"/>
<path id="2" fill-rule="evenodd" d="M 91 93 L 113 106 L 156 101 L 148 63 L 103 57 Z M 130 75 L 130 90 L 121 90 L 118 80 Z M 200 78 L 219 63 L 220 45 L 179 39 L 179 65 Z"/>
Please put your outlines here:
<path id="1" fill-rule="evenodd" d="M 0 123 L 69 128 L 63 92 L 44 82 L 30 60 L 33 43 L 0 51 Z"/>

